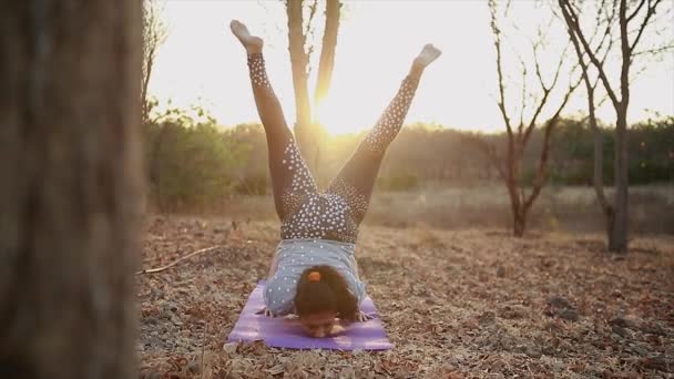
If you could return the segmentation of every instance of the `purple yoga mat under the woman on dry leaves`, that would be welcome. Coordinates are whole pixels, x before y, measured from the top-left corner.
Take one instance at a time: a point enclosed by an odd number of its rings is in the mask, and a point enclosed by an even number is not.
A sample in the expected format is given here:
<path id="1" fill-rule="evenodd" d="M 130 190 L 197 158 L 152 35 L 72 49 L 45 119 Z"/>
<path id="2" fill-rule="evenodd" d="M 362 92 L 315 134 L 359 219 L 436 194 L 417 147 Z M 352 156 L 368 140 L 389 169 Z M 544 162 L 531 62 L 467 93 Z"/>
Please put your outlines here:
<path id="1" fill-rule="evenodd" d="M 384 325 L 377 315 L 377 308 L 368 296 L 360 304 L 360 309 L 374 317 L 366 322 L 354 322 L 345 331 L 325 338 L 307 337 L 299 320 L 290 317 L 266 317 L 256 315 L 264 308 L 264 280 L 253 289 L 227 341 L 264 340 L 267 346 L 288 349 L 334 349 L 334 350 L 387 350 L 394 347 L 388 340 Z"/>

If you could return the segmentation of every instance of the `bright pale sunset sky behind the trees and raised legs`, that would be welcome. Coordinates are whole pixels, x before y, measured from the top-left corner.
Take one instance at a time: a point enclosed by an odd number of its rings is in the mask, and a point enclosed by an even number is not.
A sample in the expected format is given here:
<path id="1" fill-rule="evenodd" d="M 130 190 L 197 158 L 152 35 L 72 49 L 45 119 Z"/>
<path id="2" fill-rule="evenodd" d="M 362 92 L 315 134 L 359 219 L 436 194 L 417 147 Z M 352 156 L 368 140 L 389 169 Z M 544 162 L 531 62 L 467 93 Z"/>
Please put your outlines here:
<path id="1" fill-rule="evenodd" d="M 533 2 L 514 3 L 510 17 L 518 20 L 524 34 L 530 34 L 534 22 L 548 14 L 533 7 Z M 171 99 L 177 106 L 200 104 L 223 125 L 257 122 L 245 53 L 228 29 L 229 21 L 238 19 L 252 33 L 265 39 L 267 70 L 288 123 L 293 122 L 295 106 L 283 2 L 167 0 L 162 6 L 168 38 L 159 52 L 151 79 L 153 95 L 162 103 Z M 665 38 L 674 38 L 674 28 L 667 30 Z M 548 42 L 551 50 L 560 51 L 566 39 L 561 23 L 556 23 Z M 428 42 L 443 54 L 427 70 L 407 123 L 433 122 L 486 132 L 503 130 L 496 103 L 496 53 L 489 12 L 486 1 L 477 0 L 347 2 L 333 86 L 321 112 L 327 129 L 337 134 L 370 127 L 395 94 L 411 60 Z M 521 38 L 513 38 L 512 45 L 524 57 L 530 49 Z M 511 50 L 506 53 L 509 60 L 514 59 Z M 575 59 L 572 50 L 569 55 Z M 313 60 L 317 59 L 315 53 Z M 552 68 L 554 53 L 544 54 L 543 61 L 547 68 Z M 506 69 L 519 80 L 517 65 L 507 63 Z M 313 89 L 314 75 L 309 82 L 309 90 Z M 520 90 L 510 91 L 509 102 L 514 106 Z M 579 90 L 578 94 L 566 114 L 586 109 L 584 91 Z M 556 103 L 555 98 L 550 109 Z M 631 121 L 652 115 L 646 110 L 674 115 L 672 52 L 650 62 L 632 85 Z M 611 122 L 612 112 L 606 102 L 600 116 Z"/>

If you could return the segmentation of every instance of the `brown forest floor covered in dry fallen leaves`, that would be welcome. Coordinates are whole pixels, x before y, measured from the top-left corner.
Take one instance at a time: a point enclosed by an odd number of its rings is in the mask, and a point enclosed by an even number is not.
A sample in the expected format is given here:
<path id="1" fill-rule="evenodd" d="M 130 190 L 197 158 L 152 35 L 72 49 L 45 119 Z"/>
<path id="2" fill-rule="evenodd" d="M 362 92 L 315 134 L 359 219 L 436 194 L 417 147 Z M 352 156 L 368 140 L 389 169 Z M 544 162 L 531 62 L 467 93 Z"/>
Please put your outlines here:
<path id="1" fill-rule="evenodd" d="M 225 344 L 277 225 L 150 217 L 137 275 L 141 378 L 674 378 L 674 237 L 624 258 L 601 235 L 366 226 L 357 259 L 396 345 L 384 352 Z"/>

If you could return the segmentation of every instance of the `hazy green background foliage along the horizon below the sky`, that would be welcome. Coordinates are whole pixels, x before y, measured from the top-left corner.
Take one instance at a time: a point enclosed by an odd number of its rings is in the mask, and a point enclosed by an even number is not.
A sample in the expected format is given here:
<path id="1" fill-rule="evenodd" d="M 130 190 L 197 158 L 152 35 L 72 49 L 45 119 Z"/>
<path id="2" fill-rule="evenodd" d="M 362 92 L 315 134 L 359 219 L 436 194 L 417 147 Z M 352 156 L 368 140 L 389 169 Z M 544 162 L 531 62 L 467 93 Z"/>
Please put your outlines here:
<path id="1" fill-rule="evenodd" d="M 156 105 L 156 104 L 154 104 Z M 262 125 L 217 125 L 201 107 L 170 107 L 145 124 L 151 204 L 165 212 L 215 207 L 238 195 L 269 193 L 267 148 Z M 604 181 L 613 183 L 613 133 L 604 125 Z M 331 137 L 318 182 L 326 185 L 365 136 Z M 479 186 L 498 181 L 497 170 L 472 142 L 474 133 L 439 125 L 407 125 L 387 152 L 379 191 L 411 191 L 426 185 Z M 488 135 L 502 140 L 504 134 Z M 498 141 L 492 141 L 498 142 Z M 535 131 L 522 175 L 532 178 L 542 133 Z M 549 181 L 553 185 L 592 183 L 592 131 L 582 120 L 564 119 L 552 136 Z M 630 183 L 674 181 L 674 117 L 634 124 L 629 131 Z M 496 143 L 503 146 L 504 143 Z"/>

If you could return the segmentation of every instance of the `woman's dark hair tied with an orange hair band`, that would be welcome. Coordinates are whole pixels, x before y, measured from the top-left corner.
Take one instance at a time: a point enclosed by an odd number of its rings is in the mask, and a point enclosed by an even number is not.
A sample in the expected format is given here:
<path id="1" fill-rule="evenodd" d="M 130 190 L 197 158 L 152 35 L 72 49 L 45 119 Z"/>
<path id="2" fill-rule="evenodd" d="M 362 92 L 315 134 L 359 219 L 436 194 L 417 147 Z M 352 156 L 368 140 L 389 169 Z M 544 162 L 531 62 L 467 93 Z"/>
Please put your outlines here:
<path id="1" fill-rule="evenodd" d="M 297 283 L 295 309 L 299 317 L 333 310 L 337 311 L 340 319 L 354 321 L 358 300 L 336 269 L 321 265 L 302 273 Z"/>

